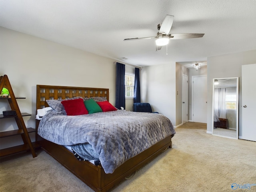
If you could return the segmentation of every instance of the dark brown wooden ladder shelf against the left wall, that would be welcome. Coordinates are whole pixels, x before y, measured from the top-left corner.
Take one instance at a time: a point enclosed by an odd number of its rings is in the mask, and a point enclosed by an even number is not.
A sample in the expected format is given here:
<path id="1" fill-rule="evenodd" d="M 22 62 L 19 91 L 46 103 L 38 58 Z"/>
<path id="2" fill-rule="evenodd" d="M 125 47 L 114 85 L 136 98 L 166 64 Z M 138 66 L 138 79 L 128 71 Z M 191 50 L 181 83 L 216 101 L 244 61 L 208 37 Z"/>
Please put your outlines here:
<path id="1" fill-rule="evenodd" d="M 14 136 L 14 135 L 21 135 L 22 140 L 24 142 L 23 145 L 15 146 L 11 148 L 6 148 L 0 150 L 0 157 L 6 156 L 9 154 L 13 154 L 16 152 L 22 152 L 26 150 L 30 150 L 33 157 L 36 157 L 36 152 L 34 150 L 34 147 L 32 145 L 32 142 L 30 140 L 30 136 L 28 132 L 35 132 L 33 128 L 26 128 L 26 125 L 24 123 L 22 116 L 30 116 L 28 113 L 21 113 L 20 108 L 18 106 L 16 99 L 24 99 L 23 97 L 15 97 L 12 86 L 10 84 L 10 81 L 8 79 L 7 75 L 0 76 L 0 91 L 2 91 L 3 88 L 8 89 L 10 96 L 7 98 L 0 98 L 0 100 L 8 100 L 11 110 L 16 111 L 15 116 L 3 116 L 0 115 L 0 119 L 2 118 L 15 118 L 16 124 L 18 126 L 18 130 L 11 130 L 6 132 L 0 132 L 0 138 L 8 137 L 8 136 Z"/>

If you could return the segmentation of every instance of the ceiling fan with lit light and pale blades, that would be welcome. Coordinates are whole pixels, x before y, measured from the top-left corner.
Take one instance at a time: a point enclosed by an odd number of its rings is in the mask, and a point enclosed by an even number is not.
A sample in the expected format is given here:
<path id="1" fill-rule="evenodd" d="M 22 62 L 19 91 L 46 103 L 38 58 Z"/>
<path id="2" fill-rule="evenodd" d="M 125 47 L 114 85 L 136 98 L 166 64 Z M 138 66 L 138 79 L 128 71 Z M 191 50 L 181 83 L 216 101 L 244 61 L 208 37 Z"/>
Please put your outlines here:
<path id="1" fill-rule="evenodd" d="M 174 16 L 166 15 L 164 21 L 158 24 L 157 28 L 159 32 L 154 37 L 130 38 L 130 39 L 124 39 L 124 41 L 156 38 L 156 50 L 160 50 L 162 46 L 167 45 L 169 43 L 170 39 L 200 38 L 204 36 L 204 33 L 169 34 L 172 27 L 173 19 L 174 19 Z"/>

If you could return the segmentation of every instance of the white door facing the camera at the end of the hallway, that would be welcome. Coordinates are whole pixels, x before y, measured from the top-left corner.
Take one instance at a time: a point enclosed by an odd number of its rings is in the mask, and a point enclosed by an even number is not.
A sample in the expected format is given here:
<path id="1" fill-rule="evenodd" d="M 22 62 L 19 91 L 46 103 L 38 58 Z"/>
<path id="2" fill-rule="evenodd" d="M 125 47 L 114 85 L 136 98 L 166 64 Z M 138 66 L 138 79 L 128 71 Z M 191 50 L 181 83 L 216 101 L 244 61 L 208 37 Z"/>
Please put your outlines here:
<path id="1" fill-rule="evenodd" d="M 207 76 L 192 76 L 192 118 L 194 122 L 207 122 Z"/>

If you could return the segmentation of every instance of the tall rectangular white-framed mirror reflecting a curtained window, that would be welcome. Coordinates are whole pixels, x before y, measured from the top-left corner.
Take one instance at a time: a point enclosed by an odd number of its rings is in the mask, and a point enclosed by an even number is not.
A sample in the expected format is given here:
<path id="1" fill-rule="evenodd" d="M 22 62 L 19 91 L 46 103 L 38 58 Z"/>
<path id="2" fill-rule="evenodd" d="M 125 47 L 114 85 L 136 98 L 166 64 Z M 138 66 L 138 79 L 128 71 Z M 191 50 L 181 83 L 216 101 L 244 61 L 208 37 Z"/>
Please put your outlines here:
<path id="1" fill-rule="evenodd" d="M 213 79 L 212 134 L 238 139 L 238 77 Z"/>

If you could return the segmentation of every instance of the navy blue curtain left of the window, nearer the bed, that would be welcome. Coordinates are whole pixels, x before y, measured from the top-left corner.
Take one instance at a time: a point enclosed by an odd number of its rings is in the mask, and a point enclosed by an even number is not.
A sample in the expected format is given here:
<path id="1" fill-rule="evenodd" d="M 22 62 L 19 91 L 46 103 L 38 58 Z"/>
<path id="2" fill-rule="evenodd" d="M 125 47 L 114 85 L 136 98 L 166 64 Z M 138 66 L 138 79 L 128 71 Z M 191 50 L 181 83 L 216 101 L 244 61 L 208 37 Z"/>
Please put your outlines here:
<path id="1" fill-rule="evenodd" d="M 125 108 L 125 65 L 116 62 L 116 108 Z"/>

